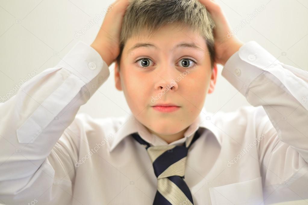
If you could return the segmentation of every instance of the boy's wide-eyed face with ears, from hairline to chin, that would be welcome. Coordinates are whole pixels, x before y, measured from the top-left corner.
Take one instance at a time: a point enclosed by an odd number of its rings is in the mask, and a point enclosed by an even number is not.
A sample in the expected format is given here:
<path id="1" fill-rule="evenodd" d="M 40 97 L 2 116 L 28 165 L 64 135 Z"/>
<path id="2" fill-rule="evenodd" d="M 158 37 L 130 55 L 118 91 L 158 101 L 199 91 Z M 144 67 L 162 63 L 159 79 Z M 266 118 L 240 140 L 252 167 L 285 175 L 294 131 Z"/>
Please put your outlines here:
<path id="1" fill-rule="evenodd" d="M 140 43 L 157 48 L 130 50 Z M 201 49 L 183 46 L 172 50 L 180 43 L 194 43 Z M 213 92 L 216 83 L 217 67 L 215 64 L 211 70 L 208 52 L 204 38 L 175 24 L 164 26 L 151 37 L 144 34 L 128 39 L 120 72 L 115 69 L 115 85 L 123 90 L 132 114 L 151 133 L 174 135 L 186 131 L 200 114 L 206 94 Z M 158 103 L 172 103 L 179 108 L 160 112 L 153 108 Z"/>

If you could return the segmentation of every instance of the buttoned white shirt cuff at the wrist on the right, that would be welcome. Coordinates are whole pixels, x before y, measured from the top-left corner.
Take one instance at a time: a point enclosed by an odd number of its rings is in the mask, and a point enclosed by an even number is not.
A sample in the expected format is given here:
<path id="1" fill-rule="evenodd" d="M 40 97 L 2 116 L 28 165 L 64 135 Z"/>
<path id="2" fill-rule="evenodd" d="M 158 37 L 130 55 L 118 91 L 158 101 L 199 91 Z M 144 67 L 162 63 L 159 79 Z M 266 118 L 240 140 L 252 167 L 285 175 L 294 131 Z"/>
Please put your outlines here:
<path id="1" fill-rule="evenodd" d="M 278 63 L 279 61 L 257 42 L 249 41 L 227 60 L 221 75 L 246 96 L 253 80 Z"/>

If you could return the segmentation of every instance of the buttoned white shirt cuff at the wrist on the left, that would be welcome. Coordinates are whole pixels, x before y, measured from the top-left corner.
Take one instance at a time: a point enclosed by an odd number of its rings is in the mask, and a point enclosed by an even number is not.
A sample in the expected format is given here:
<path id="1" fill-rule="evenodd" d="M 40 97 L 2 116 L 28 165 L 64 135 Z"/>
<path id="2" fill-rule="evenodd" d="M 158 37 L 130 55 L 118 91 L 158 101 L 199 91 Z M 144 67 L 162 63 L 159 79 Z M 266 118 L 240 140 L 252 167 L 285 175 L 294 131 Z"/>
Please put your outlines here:
<path id="1" fill-rule="evenodd" d="M 104 78 L 110 75 L 109 67 L 99 53 L 82 41 L 75 44 L 67 55 L 61 59 L 57 67 L 69 70 L 85 84 L 98 74 Z"/>

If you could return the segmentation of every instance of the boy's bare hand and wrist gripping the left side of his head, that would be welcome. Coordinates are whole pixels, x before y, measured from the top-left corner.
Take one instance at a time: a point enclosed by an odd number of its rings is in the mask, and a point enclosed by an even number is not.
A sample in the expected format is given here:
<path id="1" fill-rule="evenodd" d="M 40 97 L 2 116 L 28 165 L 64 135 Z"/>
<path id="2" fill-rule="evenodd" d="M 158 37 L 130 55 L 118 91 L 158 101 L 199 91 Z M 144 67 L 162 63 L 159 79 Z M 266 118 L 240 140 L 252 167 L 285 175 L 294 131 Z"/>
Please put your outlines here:
<path id="1" fill-rule="evenodd" d="M 128 0 L 117 0 L 110 5 L 103 24 L 91 44 L 108 66 L 120 54 L 120 32 L 122 29 L 123 17 L 129 4 Z"/>

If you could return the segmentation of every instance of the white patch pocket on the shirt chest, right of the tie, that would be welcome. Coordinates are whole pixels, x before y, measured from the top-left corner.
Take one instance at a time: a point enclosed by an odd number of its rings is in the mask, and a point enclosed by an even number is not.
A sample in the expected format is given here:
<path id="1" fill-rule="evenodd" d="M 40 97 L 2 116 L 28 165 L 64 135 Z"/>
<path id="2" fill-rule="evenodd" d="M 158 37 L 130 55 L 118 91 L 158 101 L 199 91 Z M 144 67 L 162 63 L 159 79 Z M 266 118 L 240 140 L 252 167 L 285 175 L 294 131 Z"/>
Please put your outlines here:
<path id="1" fill-rule="evenodd" d="M 253 180 L 209 188 L 212 205 L 264 205 L 261 176 Z"/>

